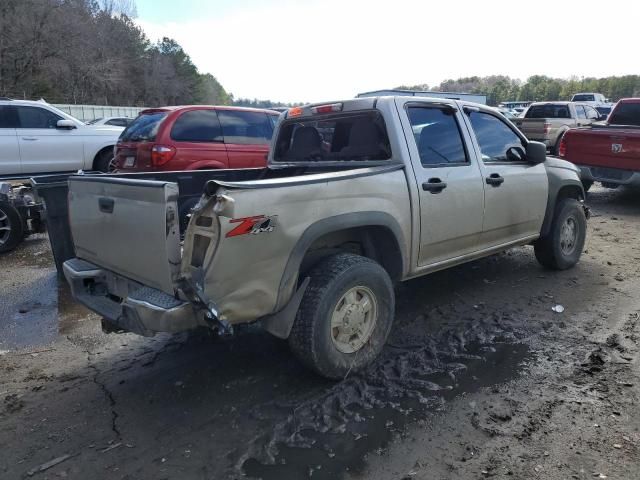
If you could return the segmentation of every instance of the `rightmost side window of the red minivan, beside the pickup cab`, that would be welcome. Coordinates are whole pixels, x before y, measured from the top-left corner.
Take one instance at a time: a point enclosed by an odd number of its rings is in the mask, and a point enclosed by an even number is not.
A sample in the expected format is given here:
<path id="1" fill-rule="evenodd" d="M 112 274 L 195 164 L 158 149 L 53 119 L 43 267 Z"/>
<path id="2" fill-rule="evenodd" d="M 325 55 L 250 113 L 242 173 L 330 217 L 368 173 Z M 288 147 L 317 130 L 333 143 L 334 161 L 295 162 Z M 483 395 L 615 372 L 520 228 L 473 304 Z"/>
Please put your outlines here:
<path id="1" fill-rule="evenodd" d="M 273 124 L 266 113 L 218 110 L 225 143 L 266 145 L 273 135 Z"/>

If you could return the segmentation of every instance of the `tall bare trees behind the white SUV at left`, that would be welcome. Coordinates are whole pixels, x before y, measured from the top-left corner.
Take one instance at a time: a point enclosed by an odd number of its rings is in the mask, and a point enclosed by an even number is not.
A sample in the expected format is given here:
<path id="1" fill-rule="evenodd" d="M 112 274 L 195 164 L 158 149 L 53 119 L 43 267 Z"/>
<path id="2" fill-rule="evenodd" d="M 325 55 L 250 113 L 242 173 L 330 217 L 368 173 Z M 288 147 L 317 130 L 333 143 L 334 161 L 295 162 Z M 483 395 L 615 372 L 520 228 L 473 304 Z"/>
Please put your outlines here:
<path id="1" fill-rule="evenodd" d="M 1 0 L 0 96 L 133 106 L 232 103 L 176 41 L 151 42 L 132 11 L 131 0 Z"/>

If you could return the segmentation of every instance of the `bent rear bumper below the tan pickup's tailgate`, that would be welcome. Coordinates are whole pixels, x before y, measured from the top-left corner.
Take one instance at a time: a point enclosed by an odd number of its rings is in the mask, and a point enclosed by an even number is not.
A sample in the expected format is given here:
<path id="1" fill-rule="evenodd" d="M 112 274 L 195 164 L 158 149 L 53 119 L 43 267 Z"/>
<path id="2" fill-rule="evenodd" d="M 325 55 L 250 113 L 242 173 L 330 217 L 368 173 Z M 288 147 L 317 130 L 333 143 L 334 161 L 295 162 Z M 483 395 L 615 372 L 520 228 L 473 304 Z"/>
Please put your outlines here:
<path id="1" fill-rule="evenodd" d="M 189 302 L 78 258 L 63 264 L 73 297 L 103 316 L 110 330 L 153 336 L 206 325 Z M 115 328 L 114 328 L 115 327 Z"/>

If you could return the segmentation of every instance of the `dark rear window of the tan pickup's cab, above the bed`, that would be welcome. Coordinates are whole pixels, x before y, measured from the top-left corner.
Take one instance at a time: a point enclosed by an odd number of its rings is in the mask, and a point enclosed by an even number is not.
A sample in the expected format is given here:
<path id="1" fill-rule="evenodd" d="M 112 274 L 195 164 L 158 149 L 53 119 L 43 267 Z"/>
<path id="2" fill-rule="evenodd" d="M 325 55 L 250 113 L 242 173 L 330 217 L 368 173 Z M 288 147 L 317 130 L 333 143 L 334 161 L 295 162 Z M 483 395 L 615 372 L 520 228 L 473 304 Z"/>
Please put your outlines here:
<path id="1" fill-rule="evenodd" d="M 387 129 L 376 111 L 285 120 L 274 152 L 276 162 L 389 158 Z"/>

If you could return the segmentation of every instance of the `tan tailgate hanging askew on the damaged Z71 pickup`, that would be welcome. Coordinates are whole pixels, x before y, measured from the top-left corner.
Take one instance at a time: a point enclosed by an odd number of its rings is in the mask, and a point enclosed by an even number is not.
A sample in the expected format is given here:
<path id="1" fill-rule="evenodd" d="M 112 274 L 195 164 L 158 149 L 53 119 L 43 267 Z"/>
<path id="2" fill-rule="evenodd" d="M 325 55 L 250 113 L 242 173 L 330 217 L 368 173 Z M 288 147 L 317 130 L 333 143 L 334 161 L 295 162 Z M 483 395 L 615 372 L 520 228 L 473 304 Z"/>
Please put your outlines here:
<path id="1" fill-rule="evenodd" d="M 76 256 L 173 295 L 181 257 L 177 199 L 172 182 L 71 177 Z"/>

